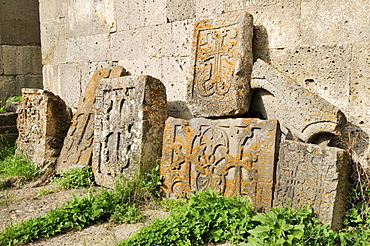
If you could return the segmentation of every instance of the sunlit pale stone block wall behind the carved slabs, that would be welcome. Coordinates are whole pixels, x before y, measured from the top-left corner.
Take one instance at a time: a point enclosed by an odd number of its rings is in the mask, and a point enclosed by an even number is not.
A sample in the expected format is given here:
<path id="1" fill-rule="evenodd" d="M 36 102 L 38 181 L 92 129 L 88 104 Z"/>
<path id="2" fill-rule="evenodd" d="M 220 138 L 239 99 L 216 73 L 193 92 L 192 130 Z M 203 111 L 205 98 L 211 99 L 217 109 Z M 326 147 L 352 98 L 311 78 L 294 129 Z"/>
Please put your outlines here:
<path id="1" fill-rule="evenodd" d="M 148 74 L 167 88 L 170 116 L 190 118 L 193 23 L 230 11 L 254 17 L 260 58 L 338 106 L 355 149 L 370 134 L 370 2 L 365 0 L 40 0 L 44 88 L 71 106 L 97 68 Z"/>

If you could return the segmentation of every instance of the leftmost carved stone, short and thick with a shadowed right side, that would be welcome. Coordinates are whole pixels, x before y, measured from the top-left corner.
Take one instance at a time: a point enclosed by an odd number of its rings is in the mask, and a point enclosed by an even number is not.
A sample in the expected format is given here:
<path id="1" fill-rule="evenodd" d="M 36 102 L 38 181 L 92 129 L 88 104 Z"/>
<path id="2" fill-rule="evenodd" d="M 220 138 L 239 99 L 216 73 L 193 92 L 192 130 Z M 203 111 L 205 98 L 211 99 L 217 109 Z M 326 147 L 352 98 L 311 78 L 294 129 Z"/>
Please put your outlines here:
<path id="1" fill-rule="evenodd" d="M 22 89 L 18 110 L 17 151 L 41 166 L 55 163 L 71 120 L 64 101 L 49 91 Z"/>

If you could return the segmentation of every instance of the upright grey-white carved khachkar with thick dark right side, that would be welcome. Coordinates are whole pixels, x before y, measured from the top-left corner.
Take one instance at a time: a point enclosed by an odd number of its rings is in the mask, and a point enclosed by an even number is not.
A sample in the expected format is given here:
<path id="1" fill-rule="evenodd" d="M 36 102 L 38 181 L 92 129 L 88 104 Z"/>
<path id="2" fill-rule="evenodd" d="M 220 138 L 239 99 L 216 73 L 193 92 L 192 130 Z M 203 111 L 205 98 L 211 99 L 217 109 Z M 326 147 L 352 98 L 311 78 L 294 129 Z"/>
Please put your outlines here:
<path id="1" fill-rule="evenodd" d="M 167 119 L 166 88 L 150 76 L 104 79 L 96 99 L 93 172 L 113 188 L 158 164 Z"/>

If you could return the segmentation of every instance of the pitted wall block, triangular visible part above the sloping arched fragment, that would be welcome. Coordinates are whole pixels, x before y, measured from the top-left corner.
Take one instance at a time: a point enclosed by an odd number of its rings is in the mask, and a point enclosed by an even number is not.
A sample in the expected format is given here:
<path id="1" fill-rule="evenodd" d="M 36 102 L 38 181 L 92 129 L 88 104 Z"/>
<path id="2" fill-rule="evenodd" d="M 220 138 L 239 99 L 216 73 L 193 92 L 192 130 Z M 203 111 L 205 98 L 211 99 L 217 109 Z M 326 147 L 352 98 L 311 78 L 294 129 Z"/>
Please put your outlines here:
<path id="1" fill-rule="evenodd" d="M 271 49 L 257 57 L 301 86 L 348 111 L 352 47 L 350 45 Z M 255 50 L 255 54 L 259 51 Z"/>

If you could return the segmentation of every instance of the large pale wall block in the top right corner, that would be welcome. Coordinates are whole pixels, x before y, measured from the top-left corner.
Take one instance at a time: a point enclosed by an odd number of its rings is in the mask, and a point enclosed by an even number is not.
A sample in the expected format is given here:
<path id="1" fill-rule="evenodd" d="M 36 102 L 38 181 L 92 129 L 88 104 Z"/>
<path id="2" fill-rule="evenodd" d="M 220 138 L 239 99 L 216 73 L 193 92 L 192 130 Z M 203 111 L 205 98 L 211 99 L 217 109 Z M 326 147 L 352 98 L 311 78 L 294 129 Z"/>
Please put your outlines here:
<path id="1" fill-rule="evenodd" d="M 302 1 L 302 45 L 369 41 L 368 1 Z"/>

